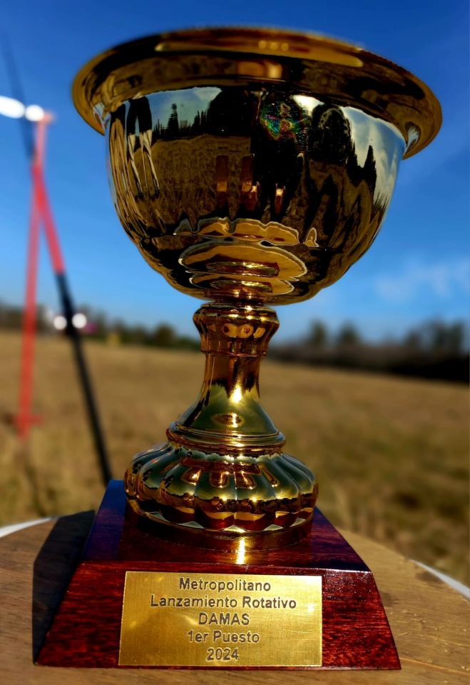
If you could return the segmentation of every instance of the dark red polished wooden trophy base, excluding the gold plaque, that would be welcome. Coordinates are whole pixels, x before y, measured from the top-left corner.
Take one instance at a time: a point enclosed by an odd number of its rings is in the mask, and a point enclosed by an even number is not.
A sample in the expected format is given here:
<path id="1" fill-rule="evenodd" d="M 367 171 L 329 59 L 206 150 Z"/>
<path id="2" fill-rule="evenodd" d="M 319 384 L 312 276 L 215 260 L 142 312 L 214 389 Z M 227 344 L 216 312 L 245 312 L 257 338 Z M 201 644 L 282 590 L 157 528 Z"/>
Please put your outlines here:
<path id="1" fill-rule="evenodd" d="M 120 666 L 126 572 L 145 571 L 155 574 L 160 580 L 165 578 L 162 574 L 167 573 L 197 574 L 195 577 L 232 574 L 234 579 L 242 577 L 253 580 L 257 576 L 281 575 L 297 579 L 300 576 L 321 576 L 322 616 L 318 636 L 321 666 L 309 665 L 308 661 L 307 664 L 302 661 L 298 666 L 278 665 L 285 664 L 281 658 L 277 663 L 272 659 L 266 663 L 258 660 L 248 666 L 237 666 L 236 661 L 182 666 L 177 660 L 175 663 L 165 663 L 165 666 L 159 662 L 158 667 L 400 668 L 397 649 L 372 572 L 318 509 L 315 510 L 312 531 L 307 538 L 281 549 L 250 551 L 249 563 L 244 564 L 237 564 L 235 559 L 228 559 L 228 555 L 220 551 L 195 549 L 159 539 L 145 528 L 145 521 L 141 524 L 141 518 L 136 517 L 126 506 L 122 482 L 111 481 L 81 561 L 39 653 L 39 664 L 100 668 Z M 284 615 L 282 611 L 272 614 L 272 621 L 278 622 L 278 634 L 282 632 Z M 170 629 L 171 626 L 168 626 Z M 178 639 L 180 649 L 184 650 L 185 642 L 182 640 L 188 638 L 182 635 Z M 158 651 L 158 647 L 157 641 L 153 649 Z M 136 661 L 133 665 L 149 664 Z"/>

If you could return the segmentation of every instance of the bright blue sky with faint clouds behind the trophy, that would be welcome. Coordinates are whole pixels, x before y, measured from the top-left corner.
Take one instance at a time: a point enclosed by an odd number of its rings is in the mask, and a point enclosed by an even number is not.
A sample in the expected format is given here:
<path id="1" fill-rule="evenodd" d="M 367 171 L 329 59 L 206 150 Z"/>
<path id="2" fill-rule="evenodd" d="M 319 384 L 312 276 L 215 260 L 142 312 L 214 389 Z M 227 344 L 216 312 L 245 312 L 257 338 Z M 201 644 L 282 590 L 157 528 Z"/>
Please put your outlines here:
<path id="1" fill-rule="evenodd" d="M 466 1 L 141 0 L 125 5 L 16 0 L 4 6 L 2 23 L 28 103 L 56 113 L 49 129 L 46 176 L 77 302 L 148 326 L 169 321 L 193 334 L 191 316 L 198 301 L 155 274 L 121 229 L 106 179 L 104 139 L 73 109 L 71 82 L 88 59 L 120 42 L 168 29 L 232 24 L 315 31 L 361 44 L 417 74 L 444 112 L 437 139 L 402 163 L 387 219 L 372 248 L 315 299 L 279 307 L 277 340 L 298 337 L 317 318 L 332 329 L 354 321 L 364 336 L 377 339 L 399 335 L 424 319 L 468 316 Z M 0 94 L 12 95 L 1 61 Z M 21 304 L 30 187 L 18 122 L 0 118 L 0 141 L 0 299 Z M 58 306 L 44 244 L 39 301 Z"/>

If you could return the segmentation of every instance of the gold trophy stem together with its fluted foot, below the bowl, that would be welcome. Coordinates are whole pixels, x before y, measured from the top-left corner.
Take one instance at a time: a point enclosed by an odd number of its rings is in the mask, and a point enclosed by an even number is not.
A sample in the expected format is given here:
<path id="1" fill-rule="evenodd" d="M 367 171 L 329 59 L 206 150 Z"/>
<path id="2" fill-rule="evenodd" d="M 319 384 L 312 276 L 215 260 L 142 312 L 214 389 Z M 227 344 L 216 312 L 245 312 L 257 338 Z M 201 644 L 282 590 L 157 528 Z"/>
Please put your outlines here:
<path id="1" fill-rule="evenodd" d="M 133 460 L 128 500 L 188 544 L 220 544 L 221 536 L 237 544 L 240 535 L 252 549 L 297 541 L 310 529 L 318 486 L 307 466 L 281 451 L 285 438 L 260 404 L 260 364 L 277 316 L 262 306 L 212 303 L 194 321 L 206 358 L 200 395 L 170 426 L 168 443 Z M 217 538 L 205 537 L 210 531 Z"/>

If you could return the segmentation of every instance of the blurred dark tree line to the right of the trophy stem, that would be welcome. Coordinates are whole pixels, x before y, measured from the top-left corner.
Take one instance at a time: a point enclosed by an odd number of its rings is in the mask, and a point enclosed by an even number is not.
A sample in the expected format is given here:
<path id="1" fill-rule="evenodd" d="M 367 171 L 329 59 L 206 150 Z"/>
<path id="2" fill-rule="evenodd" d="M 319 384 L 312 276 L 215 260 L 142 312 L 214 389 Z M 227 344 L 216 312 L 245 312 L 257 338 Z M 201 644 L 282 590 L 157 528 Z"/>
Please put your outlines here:
<path id="1" fill-rule="evenodd" d="M 426 321 L 399 340 L 377 343 L 362 339 L 354 324 L 344 324 L 334 335 L 322 321 L 314 321 L 304 339 L 273 346 L 271 356 L 315 366 L 468 383 L 468 338 L 461 321 Z"/>

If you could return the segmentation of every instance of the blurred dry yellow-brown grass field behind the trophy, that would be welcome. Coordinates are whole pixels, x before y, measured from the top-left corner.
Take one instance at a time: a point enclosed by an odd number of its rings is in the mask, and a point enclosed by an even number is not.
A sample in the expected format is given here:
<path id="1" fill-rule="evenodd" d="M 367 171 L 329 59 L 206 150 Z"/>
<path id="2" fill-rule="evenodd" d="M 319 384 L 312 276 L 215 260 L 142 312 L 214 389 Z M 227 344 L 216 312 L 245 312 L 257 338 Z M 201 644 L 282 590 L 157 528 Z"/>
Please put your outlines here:
<path id="1" fill-rule="evenodd" d="M 103 487 L 65 340 L 36 347 L 34 409 L 22 446 L 11 424 L 19 336 L 0 334 L 0 524 L 96 508 Z M 162 441 L 195 398 L 203 356 L 88 343 L 113 472 Z M 337 526 L 468 582 L 468 394 L 463 386 L 265 361 L 265 406 L 320 481 Z"/>

